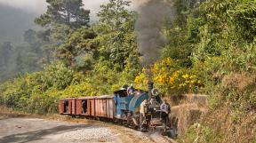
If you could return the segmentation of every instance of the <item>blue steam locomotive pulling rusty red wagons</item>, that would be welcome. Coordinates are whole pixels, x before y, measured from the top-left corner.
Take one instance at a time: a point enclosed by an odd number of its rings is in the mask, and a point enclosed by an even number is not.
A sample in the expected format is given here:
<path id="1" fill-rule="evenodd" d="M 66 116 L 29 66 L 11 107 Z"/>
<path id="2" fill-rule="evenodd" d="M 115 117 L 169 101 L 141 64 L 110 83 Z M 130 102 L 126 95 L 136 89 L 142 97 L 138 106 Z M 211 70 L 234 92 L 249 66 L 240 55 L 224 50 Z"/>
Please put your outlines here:
<path id="1" fill-rule="evenodd" d="M 60 115 L 108 120 L 140 131 L 162 131 L 173 137 L 171 110 L 160 109 L 163 100 L 153 85 L 148 83 L 148 91 L 124 86 L 110 96 L 60 99 Z"/>

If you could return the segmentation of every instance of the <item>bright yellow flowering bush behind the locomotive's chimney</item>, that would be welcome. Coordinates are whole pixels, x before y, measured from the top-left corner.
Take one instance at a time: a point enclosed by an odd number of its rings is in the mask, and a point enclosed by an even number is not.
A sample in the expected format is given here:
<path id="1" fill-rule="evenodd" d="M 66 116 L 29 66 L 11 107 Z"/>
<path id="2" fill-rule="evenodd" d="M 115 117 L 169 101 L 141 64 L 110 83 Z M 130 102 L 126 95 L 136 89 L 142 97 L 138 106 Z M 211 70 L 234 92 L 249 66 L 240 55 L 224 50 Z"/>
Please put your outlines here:
<path id="1" fill-rule="evenodd" d="M 156 61 L 151 68 L 143 68 L 135 77 L 136 88 L 147 90 L 148 77 L 155 83 L 155 87 L 168 95 L 180 95 L 189 91 L 196 91 L 200 80 L 188 68 L 180 68 L 177 61 L 171 58 Z"/>

